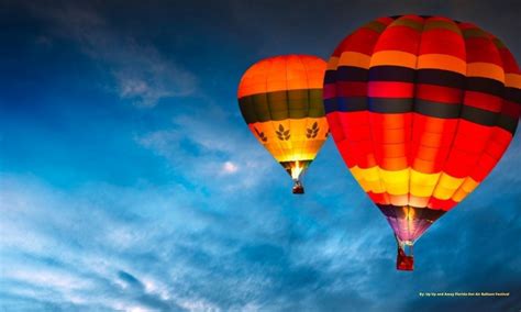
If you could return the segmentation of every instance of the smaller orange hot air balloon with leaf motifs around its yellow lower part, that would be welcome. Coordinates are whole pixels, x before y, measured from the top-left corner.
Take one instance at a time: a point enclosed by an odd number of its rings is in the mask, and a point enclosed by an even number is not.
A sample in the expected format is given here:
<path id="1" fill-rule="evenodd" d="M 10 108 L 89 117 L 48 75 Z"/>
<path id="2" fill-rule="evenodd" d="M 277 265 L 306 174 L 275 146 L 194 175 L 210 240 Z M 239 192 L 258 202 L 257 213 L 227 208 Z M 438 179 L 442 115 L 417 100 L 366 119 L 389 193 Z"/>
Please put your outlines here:
<path id="1" fill-rule="evenodd" d="M 250 67 L 239 85 L 244 121 L 293 179 L 293 193 L 303 193 L 302 174 L 328 138 L 324 71 L 315 56 L 276 56 Z"/>

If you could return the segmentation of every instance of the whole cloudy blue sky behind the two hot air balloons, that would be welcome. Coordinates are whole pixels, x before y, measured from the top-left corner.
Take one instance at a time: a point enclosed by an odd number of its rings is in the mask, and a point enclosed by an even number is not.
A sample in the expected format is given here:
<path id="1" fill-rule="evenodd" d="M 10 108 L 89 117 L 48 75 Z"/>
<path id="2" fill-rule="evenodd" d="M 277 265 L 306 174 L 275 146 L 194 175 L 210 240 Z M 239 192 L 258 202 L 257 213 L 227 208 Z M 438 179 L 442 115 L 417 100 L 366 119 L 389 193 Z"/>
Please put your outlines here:
<path id="1" fill-rule="evenodd" d="M 519 3 L 149 2 L 0 4 L 1 311 L 521 309 L 519 137 L 400 272 L 334 144 L 291 196 L 235 99 L 259 58 L 326 58 L 379 15 L 472 21 L 521 56 Z"/>

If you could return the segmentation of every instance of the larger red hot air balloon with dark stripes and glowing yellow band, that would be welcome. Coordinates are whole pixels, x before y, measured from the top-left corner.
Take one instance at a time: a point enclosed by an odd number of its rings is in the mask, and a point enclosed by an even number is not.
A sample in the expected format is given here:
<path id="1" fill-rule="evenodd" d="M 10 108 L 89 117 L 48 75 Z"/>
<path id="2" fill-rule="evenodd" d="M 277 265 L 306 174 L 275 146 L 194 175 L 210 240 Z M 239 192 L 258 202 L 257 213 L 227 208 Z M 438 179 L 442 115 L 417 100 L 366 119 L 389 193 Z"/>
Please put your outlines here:
<path id="1" fill-rule="evenodd" d="M 395 232 L 397 269 L 412 270 L 414 242 L 510 144 L 521 76 L 505 44 L 474 24 L 381 18 L 334 51 L 324 105 L 345 164 Z"/>

